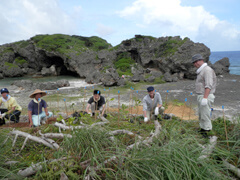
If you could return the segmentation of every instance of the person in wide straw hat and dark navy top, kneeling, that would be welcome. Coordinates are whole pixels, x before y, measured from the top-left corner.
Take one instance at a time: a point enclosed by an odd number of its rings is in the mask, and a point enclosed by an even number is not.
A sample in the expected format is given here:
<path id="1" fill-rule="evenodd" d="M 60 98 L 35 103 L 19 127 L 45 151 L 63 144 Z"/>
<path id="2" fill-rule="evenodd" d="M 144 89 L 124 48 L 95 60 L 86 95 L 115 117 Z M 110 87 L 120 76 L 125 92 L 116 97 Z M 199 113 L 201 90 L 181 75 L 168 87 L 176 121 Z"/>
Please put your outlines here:
<path id="1" fill-rule="evenodd" d="M 40 122 L 45 124 L 45 118 L 51 117 L 53 114 L 52 112 L 48 112 L 47 103 L 41 97 L 46 96 L 47 93 L 41 91 L 40 89 L 36 89 L 29 97 L 33 98 L 32 101 L 28 104 L 28 118 L 29 118 L 29 126 L 32 125 L 34 127 L 40 126 Z M 42 111 L 44 108 L 44 111 Z"/>

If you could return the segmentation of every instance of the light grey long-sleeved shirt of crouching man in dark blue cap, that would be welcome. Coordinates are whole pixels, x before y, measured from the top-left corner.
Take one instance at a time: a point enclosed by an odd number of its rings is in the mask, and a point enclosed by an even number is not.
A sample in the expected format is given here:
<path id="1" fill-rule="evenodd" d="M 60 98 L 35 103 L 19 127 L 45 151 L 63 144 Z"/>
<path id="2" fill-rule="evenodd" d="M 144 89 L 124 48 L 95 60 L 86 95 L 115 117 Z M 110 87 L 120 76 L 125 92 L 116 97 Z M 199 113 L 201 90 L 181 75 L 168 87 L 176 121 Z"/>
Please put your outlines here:
<path id="1" fill-rule="evenodd" d="M 143 111 L 154 111 L 155 107 L 160 104 L 162 105 L 162 98 L 160 93 L 156 92 L 154 99 L 152 99 L 149 94 L 143 98 Z"/>

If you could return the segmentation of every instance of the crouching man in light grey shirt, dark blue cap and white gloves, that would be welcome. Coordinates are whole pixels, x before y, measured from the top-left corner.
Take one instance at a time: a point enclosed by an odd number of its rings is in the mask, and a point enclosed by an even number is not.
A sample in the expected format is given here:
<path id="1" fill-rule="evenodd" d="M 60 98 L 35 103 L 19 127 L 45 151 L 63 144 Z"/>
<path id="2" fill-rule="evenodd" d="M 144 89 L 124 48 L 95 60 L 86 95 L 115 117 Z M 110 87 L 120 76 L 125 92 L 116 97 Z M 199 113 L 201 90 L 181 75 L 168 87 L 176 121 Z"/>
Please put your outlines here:
<path id="1" fill-rule="evenodd" d="M 160 93 L 154 91 L 154 87 L 147 88 L 148 95 L 143 98 L 143 116 L 144 122 L 151 119 L 151 115 L 157 116 L 163 114 L 164 107 L 162 106 L 162 98 Z"/>

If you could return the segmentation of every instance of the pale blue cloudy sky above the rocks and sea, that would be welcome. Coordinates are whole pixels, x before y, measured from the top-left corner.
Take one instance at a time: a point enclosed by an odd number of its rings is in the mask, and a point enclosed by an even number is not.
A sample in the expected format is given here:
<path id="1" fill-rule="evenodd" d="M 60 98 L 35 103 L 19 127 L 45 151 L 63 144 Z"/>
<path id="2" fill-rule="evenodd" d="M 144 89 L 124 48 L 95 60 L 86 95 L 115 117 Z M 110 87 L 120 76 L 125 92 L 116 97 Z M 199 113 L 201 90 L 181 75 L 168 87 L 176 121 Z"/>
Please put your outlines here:
<path id="1" fill-rule="evenodd" d="M 240 50 L 239 0 L 0 0 L 0 45 L 37 34 L 189 37 L 211 51 Z"/>

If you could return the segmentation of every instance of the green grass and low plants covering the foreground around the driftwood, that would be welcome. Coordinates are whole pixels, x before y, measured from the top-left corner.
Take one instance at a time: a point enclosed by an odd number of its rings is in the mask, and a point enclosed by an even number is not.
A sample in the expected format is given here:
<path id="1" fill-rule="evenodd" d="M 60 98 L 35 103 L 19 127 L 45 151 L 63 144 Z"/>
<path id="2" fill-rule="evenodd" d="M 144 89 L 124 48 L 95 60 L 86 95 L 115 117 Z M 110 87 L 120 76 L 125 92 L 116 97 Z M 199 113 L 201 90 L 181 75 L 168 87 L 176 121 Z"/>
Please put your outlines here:
<path id="1" fill-rule="evenodd" d="M 212 135 L 218 137 L 217 145 L 208 159 L 199 160 L 203 150 L 199 144 L 206 146 L 209 139 L 202 138 L 197 132 L 197 122 L 181 119 L 160 121 L 161 132 L 152 143 L 128 150 L 129 145 L 139 141 L 138 136 L 146 139 L 154 133 L 154 123 L 145 124 L 141 119 L 130 122 L 117 113 L 109 114 L 108 120 L 104 126 L 62 131 L 73 138 L 54 139 L 60 145 L 58 150 L 29 141 L 20 152 L 24 138 L 18 138 L 14 147 L 11 139 L 4 144 L 12 129 L 1 129 L 1 178 L 23 179 L 17 175 L 18 171 L 39 162 L 42 169 L 28 179 L 59 179 L 62 173 L 69 179 L 226 179 L 234 177 L 234 174 L 223 166 L 223 160 L 239 168 L 239 124 L 227 123 L 227 146 L 223 119 L 213 121 Z M 82 116 L 80 121 L 88 125 L 101 122 L 89 115 Z M 121 133 L 114 136 L 114 140 L 109 138 L 109 132 L 122 129 L 133 134 Z M 35 136 L 40 136 L 39 130 L 43 134 L 59 132 L 53 124 L 19 130 Z M 64 160 L 54 162 L 53 159 Z M 7 165 L 8 161 L 17 163 Z"/>

